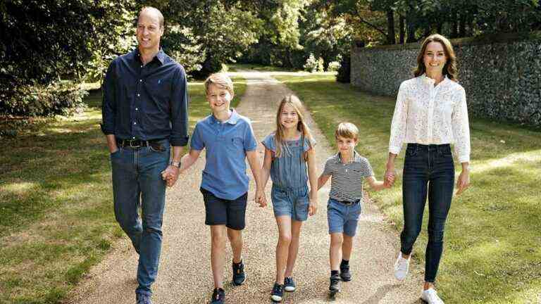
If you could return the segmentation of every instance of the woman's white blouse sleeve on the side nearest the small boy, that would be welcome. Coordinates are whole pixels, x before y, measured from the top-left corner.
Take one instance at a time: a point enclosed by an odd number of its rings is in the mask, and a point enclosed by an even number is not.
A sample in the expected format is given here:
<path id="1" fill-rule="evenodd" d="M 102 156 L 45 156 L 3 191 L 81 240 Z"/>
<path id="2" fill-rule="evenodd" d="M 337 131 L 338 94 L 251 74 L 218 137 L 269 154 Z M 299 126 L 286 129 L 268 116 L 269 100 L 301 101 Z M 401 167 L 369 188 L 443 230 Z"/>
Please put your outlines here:
<path id="1" fill-rule="evenodd" d="M 389 139 L 389 152 L 399 154 L 406 138 L 408 103 L 406 98 L 406 82 L 400 84 L 397 96 L 397 104 L 394 106 L 394 114 L 391 122 L 391 135 Z"/>

